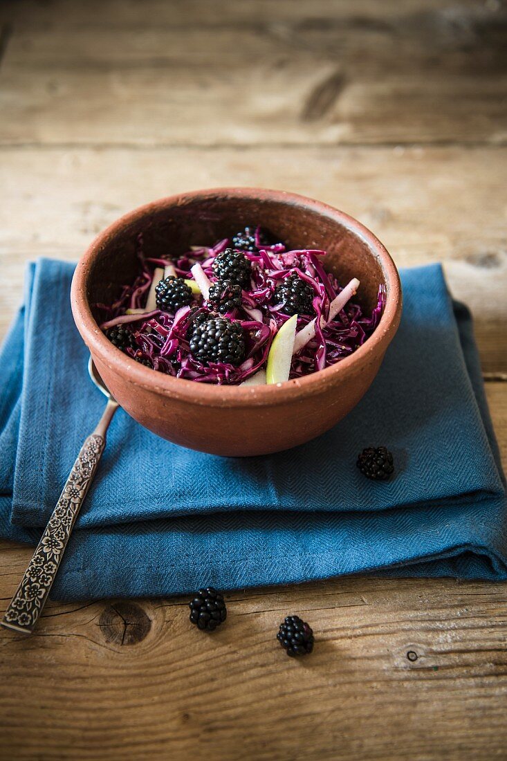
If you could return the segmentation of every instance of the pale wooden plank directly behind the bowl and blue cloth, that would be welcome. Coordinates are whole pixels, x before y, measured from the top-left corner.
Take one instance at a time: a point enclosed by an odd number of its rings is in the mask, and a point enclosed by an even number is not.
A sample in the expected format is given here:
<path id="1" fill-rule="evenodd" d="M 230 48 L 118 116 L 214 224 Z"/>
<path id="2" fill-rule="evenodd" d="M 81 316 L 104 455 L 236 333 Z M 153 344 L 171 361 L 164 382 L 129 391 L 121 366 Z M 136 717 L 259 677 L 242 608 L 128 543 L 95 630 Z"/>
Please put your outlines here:
<path id="1" fill-rule="evenodd" d="M 505 148 L 4 149 L 0 334 L 24 263 L 76 260 L 140 203 L 206 186 L 282 187 L 364 221 L 399 266 L 445 263 L 477 320 L 483 369 L 507 372 Z"/>

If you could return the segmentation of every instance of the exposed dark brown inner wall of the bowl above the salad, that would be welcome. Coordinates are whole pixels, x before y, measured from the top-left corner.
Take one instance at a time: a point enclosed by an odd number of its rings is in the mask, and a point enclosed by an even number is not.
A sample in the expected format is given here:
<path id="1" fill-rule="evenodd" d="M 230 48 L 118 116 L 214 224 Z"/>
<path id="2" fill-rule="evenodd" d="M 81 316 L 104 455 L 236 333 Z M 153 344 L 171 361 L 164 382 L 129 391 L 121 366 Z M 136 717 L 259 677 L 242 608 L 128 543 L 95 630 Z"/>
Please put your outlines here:
<path id="1" fill-rule="evenodd" d="M 335 210 L 323 205 L 317 209 L 305 205 L 305 199 L 278 195 L 266 199 L 227 193 L 182 196 L 178 203 L 167 199 L 127 215 L 102 238 L 100 256 L 91 263 L 87 297 L 94 318 L 98 317 L 94 304 L 111 304 L 121 286 L 138 274 L 140 235 L 147 256 L 177 256 L 190 246 L 212 245 L 231 237 L 247 224 L 260 224 L 292 249 L 326 250 L 325 269 L 343 285 L 352 277 L 359 278 L 356 300 L 365 310 L 373 309 L 378 286 L 387 283 L 378 254 L 362 237 L 360 226 L 355 229 L 356 223 L 346 215 L 340 221 Z"/>

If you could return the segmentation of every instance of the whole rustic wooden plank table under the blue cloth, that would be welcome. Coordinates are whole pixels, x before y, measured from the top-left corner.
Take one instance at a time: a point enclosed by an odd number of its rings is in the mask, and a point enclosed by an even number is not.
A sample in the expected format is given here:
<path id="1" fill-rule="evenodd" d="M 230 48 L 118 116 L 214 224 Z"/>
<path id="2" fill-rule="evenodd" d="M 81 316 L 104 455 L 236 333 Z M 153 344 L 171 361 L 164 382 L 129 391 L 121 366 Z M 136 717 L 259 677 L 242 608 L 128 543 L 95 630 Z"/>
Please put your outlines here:
<path id="1" fill-rule="evenodd" d="M 507 14 L 499 0 L 19 0 L 0 6 L 0 333 L 35 256 L 134 206 L 278 187 L 443 261 L 477 320 L 507 462 Z M 0 543 L 6 605 L 30 549 Z M 186 600 L 50 603 L 0 631 L 0 757 L 507 758 L 507 587 L 346 578 Z M 318 646 L 289 661 L 290 612 Z"/>

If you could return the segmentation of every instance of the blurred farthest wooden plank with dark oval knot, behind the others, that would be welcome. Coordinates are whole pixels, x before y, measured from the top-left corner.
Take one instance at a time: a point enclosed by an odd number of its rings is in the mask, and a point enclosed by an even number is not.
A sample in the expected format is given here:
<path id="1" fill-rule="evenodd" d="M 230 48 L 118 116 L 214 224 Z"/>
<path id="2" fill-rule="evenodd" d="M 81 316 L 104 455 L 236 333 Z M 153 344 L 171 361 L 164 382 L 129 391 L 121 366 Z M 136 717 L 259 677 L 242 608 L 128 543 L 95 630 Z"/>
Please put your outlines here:
<path id="1" fill-rule="evenodd" d="M 362 17 L 336 3 L 292 18 L 285 5 L 272 21 L 276 5 L 212 27 L 149 12 L 76 24 L 69 4 L 56 22 L 24 17 L 2 64 L 0 142 L 505 142 L 502 8 L 367 4 Z"/>

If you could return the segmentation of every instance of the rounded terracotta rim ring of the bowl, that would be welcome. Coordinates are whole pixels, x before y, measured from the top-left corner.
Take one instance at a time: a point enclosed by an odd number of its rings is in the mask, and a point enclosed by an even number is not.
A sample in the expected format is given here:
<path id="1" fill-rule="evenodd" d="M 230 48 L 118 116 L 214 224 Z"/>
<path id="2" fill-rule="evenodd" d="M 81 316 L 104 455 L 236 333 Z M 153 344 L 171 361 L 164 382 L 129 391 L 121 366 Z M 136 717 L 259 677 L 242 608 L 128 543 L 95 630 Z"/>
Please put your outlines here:
<path id="1" fill-rule="evenodd" d="M 352 355 L 333 365 L 330 368 L 317 371 L 301 378 L 287 380 L 285 383 L 273 385 L 250 386 L 226 386 L 214 384 L 196 384 L 193 380 L 165 375 L 151 368 L 146 368 L 139 362 L 119 352 L 108 341 L 100 330 L 98 323 L 91 314 L 91 308 L 86 297 L 89 268 L 91 263 L 100 256 L 111 238 L 123 231 L 126 225 L 160 212 L 161 209 L 171 209 L 171 206 L 181 205 L 191 200 L 205 200 L 212 198 L 245 198 L 261 199 L 262 201 L 286 202 L 296 207 L 311 209 L 317 214 L 331 218 L 346 227 L 363 242 L 375 256 L 384 275 L 386 283 L 386 303 L 384 313 L 374 333 L 365 343 L 356 349 Z M 194 190 L 189 193 L 177 193 L 174 196 L 166 196 L 138 206 L 131 212 L 127 212 L 102 231 L 91 243 L 81 256 L 72 278 L 71 288 L 72 314 L 81 337 L 85 340 L 92 355 L 97 355 L 112 371 L 126 377 L 130 384 L 151 390 L 164 396 L 177 398 L 201 406 L 271 406 L 281 401 L 302 399 L 314 393 L 320 393 L 327 387 L 338 383 L 340 379 L 353 370 L 368 357 L 375 349 L 385 351 L 391 342 L 401 316 L 401 284 L 400 275 L 394 261 L 381 241 L 365 227 L 364 224 L 340 211 L 315 199 L 301 196 L 298 193 L 289 193 L 285 190 L 266 190 L 251 187 L 219 187 L 204 190 Z M 384 347 L 384 349 L 382 348 Z"/>

